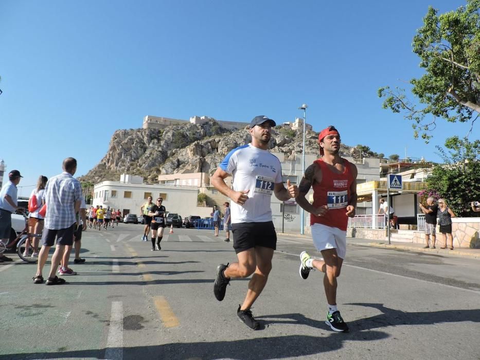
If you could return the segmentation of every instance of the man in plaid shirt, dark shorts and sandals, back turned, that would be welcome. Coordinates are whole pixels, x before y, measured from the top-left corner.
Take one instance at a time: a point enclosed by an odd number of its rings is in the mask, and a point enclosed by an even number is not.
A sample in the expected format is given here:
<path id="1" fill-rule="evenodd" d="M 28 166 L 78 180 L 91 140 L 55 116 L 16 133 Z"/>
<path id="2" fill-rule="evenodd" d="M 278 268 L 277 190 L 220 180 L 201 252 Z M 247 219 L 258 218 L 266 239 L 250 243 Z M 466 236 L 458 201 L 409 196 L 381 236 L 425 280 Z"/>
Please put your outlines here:
<path id="1" fill-rule="evenodd" d="M 33 277 L 35 284 L 43 282 L 42 269 L 47 261 L 50 247 L 57 238 L 55 253 L 51 258 L 50 274 L 47 285 L 63 284 L 64 279 L 55 275 L 58 264 L 65 250 L 65 245 L 72 245 L 74 240 L 75 214 L 80 209 L 82 188 L 80 182 L 73 177 L 77 171 L 77 160 L 67 157 L 63 160 L 63 172 L 51 177 L 45 187 L 44 199 L 47 204 L 45 229 L 43 230 L 43 246 L 39 254 L 37 274 Z M 85 223 L 83 227 L 85 229 Z M 60 275 L 76 275 L 68 264 L 63 264 Z"/>

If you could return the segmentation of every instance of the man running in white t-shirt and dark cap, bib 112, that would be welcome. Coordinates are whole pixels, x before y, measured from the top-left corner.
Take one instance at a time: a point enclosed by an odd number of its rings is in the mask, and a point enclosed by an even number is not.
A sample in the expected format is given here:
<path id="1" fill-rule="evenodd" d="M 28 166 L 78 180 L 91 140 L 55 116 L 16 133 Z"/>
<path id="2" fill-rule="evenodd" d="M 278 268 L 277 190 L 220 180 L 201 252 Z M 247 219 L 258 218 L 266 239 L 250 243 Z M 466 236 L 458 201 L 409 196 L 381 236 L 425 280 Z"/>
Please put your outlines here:
<path id="1" fill-rule="evenodd" d="M 214 294 L 222 301 L 231 278 L 246 278 L 253 274 L 237 315 L 254 330 L 258 329 L 259 323 L 250 308 L 266 284 L 277 243 L 271 196 L 275 193 L 281 201 L 298 196 L 296 185 L 288 181 L 288 189 L 283 186 L 280 160 L 268 151 L 274 126 L 274 120 L 256 116 L 250 123 L 252 142 L 230 151 L 211 177 L 212 185 L 232 200 L 232 232 L 238 257 L 238 262 L 217 267 Z M 229 175 L 233 176 L 232 188 L 224 181 Z"/>

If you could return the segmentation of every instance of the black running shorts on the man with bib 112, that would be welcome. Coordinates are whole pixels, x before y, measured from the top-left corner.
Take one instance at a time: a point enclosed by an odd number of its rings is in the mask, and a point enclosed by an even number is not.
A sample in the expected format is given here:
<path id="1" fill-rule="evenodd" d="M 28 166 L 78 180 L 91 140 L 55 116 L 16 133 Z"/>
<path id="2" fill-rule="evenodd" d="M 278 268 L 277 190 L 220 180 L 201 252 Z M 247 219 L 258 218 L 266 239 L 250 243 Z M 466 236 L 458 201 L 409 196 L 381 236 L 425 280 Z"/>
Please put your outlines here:
<path id="1" fill-rule="evenodd" d="M 256 246 L 277 248 L 277 233 L 272 221 L 232 224 L 232 233 L 237 254 Z"/>

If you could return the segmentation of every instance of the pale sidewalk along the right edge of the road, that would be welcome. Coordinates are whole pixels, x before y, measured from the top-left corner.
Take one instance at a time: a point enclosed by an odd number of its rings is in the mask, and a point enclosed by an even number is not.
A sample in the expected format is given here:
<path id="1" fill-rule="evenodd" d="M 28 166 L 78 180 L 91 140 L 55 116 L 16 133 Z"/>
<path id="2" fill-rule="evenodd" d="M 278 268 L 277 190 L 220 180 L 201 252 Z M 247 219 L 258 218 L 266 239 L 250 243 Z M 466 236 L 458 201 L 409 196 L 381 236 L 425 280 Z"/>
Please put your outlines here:
<path id="1" fill-rule="evenodd" d="M 279 236 L 292 236 L 297 238 L 307 238 L 311 239 L 310 235 L 300 235 L 299 233 L 282 233 L 277 232 Z M 460 256 L 470 259 L 480 259 L 480 249 L 470 249 L 466 247 L 458 247 L 453 250 L 449 249 L 440 249 L 441 243 L 437 241 L 435 249 L 424 249 L 425 244 L 418 244 L 412 242 L 400 242 L 400 241 L 391 241 L 388 245 L 388 240 L 372 240 L 372 239 L 358 239 L 358 238 L 347 238 L 347 244 L 360 245 L 360 246 L 370 246 L 370 247 L 381 247 L 386 249 L 398 249 L 404 251 L 415 251 L 418 253 L 428 253 L 441 256 Z"/>

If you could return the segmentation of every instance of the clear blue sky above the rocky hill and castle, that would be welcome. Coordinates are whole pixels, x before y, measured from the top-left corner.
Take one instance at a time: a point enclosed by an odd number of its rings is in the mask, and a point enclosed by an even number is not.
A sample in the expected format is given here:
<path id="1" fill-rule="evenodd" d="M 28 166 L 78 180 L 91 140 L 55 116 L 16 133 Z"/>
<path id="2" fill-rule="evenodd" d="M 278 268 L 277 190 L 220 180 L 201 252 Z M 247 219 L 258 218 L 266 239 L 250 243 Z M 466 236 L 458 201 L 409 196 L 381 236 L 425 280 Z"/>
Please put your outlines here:
<path id="1" fill-rule="evenodd" d="M 0 158 L 28 196 L 76 157 L 83 175 L 117 129 L 145 115 L 334 124 L 346 145 L 440 161 L 465 136 L 441 120 L 429 145 L 377 89 L 421 76 L 412 53 L 429 5 L 457 0 L 0 2 Z"/>

